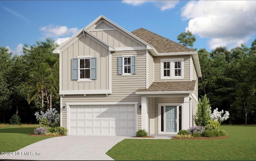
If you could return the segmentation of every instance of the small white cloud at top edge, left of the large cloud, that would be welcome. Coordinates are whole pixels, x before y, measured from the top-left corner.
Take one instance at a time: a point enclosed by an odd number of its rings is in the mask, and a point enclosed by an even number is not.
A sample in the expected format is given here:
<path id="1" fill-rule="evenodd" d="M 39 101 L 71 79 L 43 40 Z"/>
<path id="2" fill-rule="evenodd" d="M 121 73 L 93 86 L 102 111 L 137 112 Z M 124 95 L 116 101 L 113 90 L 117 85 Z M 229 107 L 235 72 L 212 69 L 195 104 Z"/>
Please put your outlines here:
<path id="1" fill-rule="evenodd" d="M 132 6 L 139 6 L 147 2 L 153 2 L 158 8 L 163 11 L 174 8 L 178 3 L 178 0 L 123 0 L 122 2 L 130 4 Z"/>

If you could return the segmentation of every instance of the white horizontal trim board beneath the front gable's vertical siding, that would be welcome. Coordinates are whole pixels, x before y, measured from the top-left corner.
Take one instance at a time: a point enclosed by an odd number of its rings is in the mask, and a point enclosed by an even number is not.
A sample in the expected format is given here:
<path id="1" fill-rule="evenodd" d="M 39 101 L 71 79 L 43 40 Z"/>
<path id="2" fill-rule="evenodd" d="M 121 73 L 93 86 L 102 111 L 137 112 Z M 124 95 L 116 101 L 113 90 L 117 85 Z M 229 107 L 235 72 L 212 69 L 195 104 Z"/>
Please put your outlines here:
<path id="1" fill-rule="evenodd" d="M 69 94 L 112 94 L 112 90 L 60 90 L 60 95 Z"/>

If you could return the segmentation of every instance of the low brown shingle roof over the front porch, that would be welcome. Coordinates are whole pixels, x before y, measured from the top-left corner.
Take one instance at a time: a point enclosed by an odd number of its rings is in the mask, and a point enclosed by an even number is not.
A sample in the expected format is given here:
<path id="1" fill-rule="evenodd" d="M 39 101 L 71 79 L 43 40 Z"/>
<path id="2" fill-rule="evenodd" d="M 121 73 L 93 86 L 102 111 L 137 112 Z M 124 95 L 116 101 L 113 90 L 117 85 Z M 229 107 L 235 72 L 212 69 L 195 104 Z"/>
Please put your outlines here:
<path id="1" fill-rule="evenodd" d="M 196 81 L 153 82 L 148 89 L 138 89 L 136 92 L 175 92 L 194 91 Z"/>

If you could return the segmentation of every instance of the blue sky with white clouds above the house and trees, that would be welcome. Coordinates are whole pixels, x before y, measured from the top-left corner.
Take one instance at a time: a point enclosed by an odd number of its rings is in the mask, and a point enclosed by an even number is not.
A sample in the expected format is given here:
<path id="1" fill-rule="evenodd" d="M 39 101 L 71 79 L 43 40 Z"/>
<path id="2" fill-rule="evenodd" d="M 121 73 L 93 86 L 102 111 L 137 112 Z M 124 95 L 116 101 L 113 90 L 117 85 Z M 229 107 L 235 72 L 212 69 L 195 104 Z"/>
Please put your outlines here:
<path id="1" fill-rule="evenodd" d="M 144 27 L 173 41 L 187 29 L 194 47 L 228 49 L 256 39 L 256 1 L 1 1 L 0 46 L 22 54 L 46 37 L 58 43 L 103 15 L 128 31 Z"/>

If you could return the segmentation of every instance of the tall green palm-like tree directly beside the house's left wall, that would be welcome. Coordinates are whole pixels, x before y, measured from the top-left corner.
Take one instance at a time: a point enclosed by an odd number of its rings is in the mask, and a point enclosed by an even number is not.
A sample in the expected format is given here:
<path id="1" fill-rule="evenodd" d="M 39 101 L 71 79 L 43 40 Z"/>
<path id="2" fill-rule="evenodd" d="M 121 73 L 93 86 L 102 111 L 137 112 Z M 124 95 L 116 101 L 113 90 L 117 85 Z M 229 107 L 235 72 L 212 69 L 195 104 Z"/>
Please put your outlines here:
<path id="1" fill-rule="evenodd" d="M 52 95 L 58 97 L 58 57 L 52 51 L 58 45 L 51 38 L 37 41 L 37 45 L 23 48 L 24 57 L 32 67 L 27 84 L 31 89 L 28 102 L 30 103 L 38 93 L 41 94 L 41 106 L 44 111 L 44 96 L 47 108 L 52 108 Z"/>

